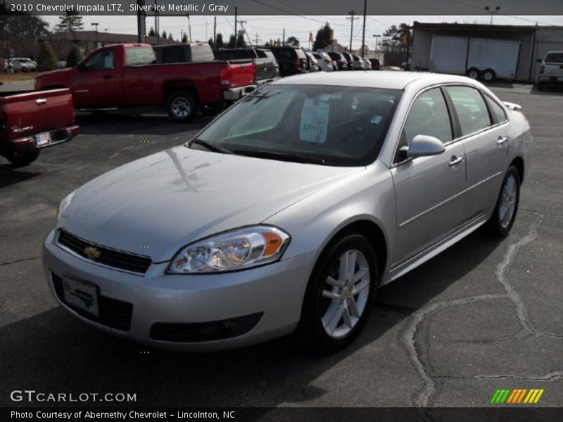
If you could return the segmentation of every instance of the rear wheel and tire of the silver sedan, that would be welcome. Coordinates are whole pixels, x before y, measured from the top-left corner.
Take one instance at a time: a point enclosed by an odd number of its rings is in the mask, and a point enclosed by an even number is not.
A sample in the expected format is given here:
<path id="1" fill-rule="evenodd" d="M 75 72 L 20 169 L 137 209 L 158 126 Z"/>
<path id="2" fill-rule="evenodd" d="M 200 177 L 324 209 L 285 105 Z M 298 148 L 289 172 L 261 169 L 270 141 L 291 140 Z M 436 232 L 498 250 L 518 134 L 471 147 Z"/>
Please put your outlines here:
<path id="1" fill-rule="evenodd" d="M 510 233 L 518 212 L 520 183 L 520 173 L 517 168 L 508 167 L 505 178 L 502 179 L 495 210 L 488 220 L 488 228 L 493 236 L 505 237 Z M 507 204 L 510 206 L 506 207 Z"/>

